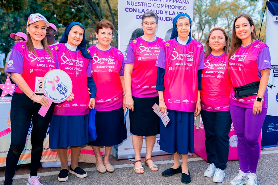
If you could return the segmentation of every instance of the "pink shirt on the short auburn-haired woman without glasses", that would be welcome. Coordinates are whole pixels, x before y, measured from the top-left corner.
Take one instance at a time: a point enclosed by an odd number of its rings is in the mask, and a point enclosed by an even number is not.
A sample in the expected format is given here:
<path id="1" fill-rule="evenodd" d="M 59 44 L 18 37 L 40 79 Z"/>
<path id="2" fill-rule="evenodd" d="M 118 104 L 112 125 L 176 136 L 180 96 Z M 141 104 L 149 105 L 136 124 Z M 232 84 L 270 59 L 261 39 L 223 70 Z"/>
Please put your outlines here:
<path id="1" fill-rule="evenodd" d="M 102 51 L 94 45 L 87 51 L 93 57 L 91 72 L 97 87 L 95 109 L 98 111 L 120 109 L 123 107 L 120 76 L 124 75 L 124 55 L 115 47 Z"/>

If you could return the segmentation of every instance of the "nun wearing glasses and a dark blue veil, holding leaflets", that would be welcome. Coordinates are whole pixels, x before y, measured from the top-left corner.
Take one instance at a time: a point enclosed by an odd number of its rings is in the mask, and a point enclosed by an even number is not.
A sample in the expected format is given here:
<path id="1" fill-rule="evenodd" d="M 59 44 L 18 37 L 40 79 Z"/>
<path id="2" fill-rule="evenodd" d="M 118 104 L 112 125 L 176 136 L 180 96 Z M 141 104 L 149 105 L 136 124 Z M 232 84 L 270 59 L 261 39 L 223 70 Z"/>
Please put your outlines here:
<path id="1" fill-rule="evenodd" d="M 156 89 L 162 113 L 170 121 L 160 120 L 160 149 L 174 154 L 174 165 L 162 176 L 181 173 L 181 182 L 190 183 L 187 167 L 188 152 L 194 153 L 194 116 L 200 113 L 201 72 L 204 50 L 191 38 L 192 21 L 189 15 L 179 14 L 173 20 L 171 39 L 160 50 Z M 179 154 L 183 163 L 179 164 Z"/>

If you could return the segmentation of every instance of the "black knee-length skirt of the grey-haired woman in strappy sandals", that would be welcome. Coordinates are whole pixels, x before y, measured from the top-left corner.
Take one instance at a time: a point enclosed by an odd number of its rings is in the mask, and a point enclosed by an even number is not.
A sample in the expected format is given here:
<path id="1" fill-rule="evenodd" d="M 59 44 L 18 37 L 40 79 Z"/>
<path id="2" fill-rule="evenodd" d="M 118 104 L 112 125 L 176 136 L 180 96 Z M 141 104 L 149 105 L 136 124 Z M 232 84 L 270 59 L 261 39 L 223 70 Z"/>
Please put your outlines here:
<path id="1" fill-rule="evenodd" d="M 137 136 L 153 136 L 159 134 L 159 117 L 152 106 L 158 104 L 158 97 L 137 98 L 134 101 L 134 111 L 129 110 L 129 131 Z"/>

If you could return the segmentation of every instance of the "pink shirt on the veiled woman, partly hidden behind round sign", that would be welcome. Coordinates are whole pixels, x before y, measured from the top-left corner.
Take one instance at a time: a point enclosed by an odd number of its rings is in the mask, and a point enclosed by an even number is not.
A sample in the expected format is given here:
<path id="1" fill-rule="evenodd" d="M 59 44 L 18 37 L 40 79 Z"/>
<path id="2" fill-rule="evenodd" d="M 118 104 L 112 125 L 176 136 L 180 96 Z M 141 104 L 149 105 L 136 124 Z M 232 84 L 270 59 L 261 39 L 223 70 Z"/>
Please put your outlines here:
<path id="1" fill-rule="evenodd" d="M 64 43 L 51 46 L 56 52 L 60 69 L 65 71 L 72 80 L 74 99 L 55 105 L 53 115 L 77 116 L 89 114 L 89 92 L 87 77 L 91 76 L 91 60 L 83 57 L 80 50 L 70 51 Z"/>

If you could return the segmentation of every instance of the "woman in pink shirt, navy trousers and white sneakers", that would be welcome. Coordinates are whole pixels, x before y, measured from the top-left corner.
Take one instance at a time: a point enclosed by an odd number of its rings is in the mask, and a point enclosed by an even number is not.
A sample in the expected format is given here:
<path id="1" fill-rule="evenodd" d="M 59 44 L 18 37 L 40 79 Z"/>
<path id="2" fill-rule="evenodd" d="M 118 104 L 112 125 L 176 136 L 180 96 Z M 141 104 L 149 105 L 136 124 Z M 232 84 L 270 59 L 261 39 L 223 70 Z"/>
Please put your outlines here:
<path id="1" fill-rule="evenodd" d="M 204 176 L 213 176 L 213 182 L 221 183 L 228 162 L 228 134 L 232 123 L 229 104 L 232 84 L 228 76 L 229 37 L 223 28 L 213 28 L 205 44 L 200 97 L 207 160 L 210 164 Z"/>

